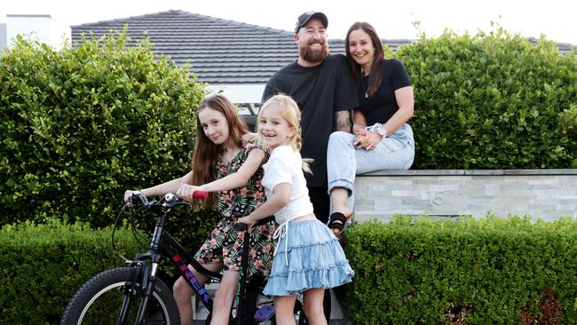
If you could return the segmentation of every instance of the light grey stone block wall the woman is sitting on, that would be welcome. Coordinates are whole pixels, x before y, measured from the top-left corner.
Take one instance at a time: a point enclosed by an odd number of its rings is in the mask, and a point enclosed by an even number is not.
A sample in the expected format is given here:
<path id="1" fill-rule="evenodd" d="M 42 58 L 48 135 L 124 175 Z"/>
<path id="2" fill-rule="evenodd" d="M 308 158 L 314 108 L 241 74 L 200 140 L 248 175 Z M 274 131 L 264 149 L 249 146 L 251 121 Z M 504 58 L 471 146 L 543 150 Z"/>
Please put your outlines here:
<path id="1" fill-rule="evenodd" d="M 392 215 L 577 217 L 577 169 L 381 170 L 357 177 L 358 222 Z"/>

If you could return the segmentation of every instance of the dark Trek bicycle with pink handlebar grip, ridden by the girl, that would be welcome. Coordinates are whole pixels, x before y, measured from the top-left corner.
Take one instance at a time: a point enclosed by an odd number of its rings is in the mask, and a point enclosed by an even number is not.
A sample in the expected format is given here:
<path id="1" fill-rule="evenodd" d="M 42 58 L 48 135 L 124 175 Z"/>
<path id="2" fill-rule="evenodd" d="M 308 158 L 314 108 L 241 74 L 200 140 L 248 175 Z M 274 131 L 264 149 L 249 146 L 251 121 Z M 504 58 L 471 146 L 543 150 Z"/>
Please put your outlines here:
<path id="1" fill-rule="evenodd" d="M 206 197 L 208 197 L 206 192 L 194 193 L 194 198 Z M 165 229 L 171 210 L 179 205 L 189 206 L 190 203 L 179 201 L 176 194 L 165 194 L 159 201 L 148 202 L 146 196 L 137 192 L 131 195 L 129 202 L 124 204 L 119 212 L 119 217 L 115 221 L 115 229 L 123 210 L 138 204 L 158 215 L 148 251 L 136 254 L 133 260 L 125 259 L 126 266 L 124 267 L 104 271 L 86 281 L 68 303 L 60 321 L 61 325 L 110 322 L 115 322 L 115 324 L 179 324 L 180 315 L 176 301 L 169 287 L 156 277 L 159 262 L 162 259 L 170 260 L 180 276 L 184 277 L 200 298 L 202 305 L 209 311 L 209 316 L 205 321 L 209 324 L 212 297 L 187 266 L 193 266 L 199 273 L 207 276 L 209 281 L 220 280 L 222 274 L 204 268 Z M 130 219 L 135 213 L 130 213 Z M 270 219 L 264 219 L 259 224 L 267 220 Z M 112 236 L 114 246 L 114 232 Z M 245 249 L 242 254 L 241 279 L 235 299 L 237 305 L 233 305 L 229 323 L 274 324 L 272 299 L 262 295 L 264 281 L 257 277 L 253 277 L 253 281 L 246 281 L 248 245 L 249 236 L 247 235 L 243 242 Z M 300 320 L 304 319 L 304 317 L 299 317 L 300 314 L 304 314 L 301 304 L 296 304 L 295 313 Z M 105 319 L 106 317 L 109 317 L 109 321 Z"/>

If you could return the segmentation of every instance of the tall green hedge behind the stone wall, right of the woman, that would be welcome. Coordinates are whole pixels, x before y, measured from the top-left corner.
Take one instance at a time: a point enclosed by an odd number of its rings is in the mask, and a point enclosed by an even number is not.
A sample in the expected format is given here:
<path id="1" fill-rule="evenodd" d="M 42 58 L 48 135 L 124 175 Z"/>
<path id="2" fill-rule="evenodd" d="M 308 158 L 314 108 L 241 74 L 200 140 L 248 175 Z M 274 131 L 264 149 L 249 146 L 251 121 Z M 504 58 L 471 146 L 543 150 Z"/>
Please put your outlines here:
<path id="1" fill-rule="evenodd" d="M 390 49 L 415 89 L 415 169 L 577 168 L 577 52 L 502 28 Z"/>

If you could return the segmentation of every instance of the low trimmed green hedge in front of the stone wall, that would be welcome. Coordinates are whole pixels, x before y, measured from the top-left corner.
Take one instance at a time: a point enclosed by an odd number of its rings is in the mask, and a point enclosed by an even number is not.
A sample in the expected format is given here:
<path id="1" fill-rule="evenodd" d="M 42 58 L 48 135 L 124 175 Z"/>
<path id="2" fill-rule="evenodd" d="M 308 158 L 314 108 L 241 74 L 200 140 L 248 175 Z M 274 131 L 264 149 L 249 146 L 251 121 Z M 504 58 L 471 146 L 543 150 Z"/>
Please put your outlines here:
<path id="1" fill-rule="evenodd" d="M 577 220 L 461 218 L 346 232 L 354 324 L 577 324 Z"/>

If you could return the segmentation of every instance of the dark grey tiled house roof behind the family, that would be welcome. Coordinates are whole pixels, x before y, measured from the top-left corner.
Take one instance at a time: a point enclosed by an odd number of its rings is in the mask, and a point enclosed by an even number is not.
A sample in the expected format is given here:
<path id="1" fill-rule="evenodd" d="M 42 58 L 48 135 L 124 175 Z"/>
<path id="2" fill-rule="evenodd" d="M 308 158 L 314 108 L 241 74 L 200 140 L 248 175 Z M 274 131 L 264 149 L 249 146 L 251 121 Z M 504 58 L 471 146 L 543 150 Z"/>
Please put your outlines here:
<path id="1" fill-rule="evenodd" d="M 82 42 L 82 33 L 99 37 L 111 29 L 122 30 L 124 24 L 130 44 L 147 32 L 154 52 L 169 55 L 177 65 L 190 59 L 190 70 L 202 83 L 266 83 L 274 72 L 298 59 L 292 32 L 179 10 L 71 26 L 72 42 Z M 396 48 L 411 41 L 383 42 Z M 328 44 L 331 53 L 344 53 L 343 40 Z"/>

